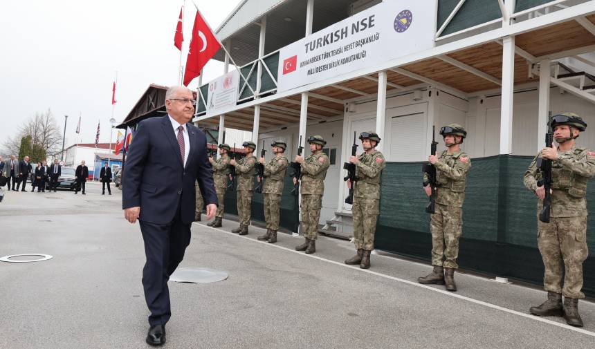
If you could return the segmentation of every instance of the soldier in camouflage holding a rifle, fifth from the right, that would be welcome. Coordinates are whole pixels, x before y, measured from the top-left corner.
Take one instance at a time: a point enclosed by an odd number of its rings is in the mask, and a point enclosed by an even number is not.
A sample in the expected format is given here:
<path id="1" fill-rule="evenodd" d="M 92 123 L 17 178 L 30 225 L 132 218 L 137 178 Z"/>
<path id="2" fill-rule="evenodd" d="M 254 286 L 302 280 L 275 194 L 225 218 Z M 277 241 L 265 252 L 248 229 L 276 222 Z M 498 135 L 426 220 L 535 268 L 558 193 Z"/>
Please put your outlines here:
<path id="1" fill-rule="evenodd" d="M 281 194 L 289 160 L 283 154 L 287 144 L 277 140 L 271 144 L 275 158 L 272 158 L 264 165 L 264 185 L 262 195 L 264 196 L 264 220 L 266 220 L 266 233 L 258 237 L 258 240 L 268 240 L 268 243 L 277 242 L 277 229 L 281 214 Z M 264 164 L 264 158 L 258 162 Z"/>

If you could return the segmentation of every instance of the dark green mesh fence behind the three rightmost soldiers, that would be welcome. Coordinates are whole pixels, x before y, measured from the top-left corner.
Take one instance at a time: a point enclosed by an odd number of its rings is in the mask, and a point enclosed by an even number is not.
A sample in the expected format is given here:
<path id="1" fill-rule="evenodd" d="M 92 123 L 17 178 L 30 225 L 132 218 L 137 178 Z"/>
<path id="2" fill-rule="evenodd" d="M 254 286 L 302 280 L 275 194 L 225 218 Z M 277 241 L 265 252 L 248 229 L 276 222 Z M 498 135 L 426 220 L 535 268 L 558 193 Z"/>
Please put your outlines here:
<path id="1" fill-rule="evenodd" d="M 498 276 L 540 284 L 543 265 L 537 248 L 537 201 L 524 188 L 522 176 L 532 158 L 499 155 L 473 159 L 463 207 L 463 237 L 459 265 Z M 430 259 L 430 217 L 421 188 L 421 162 L 388 162 L 383 171 L 381 215 L 376 247 L 399 254 Z M 595 183 L 587 191 L 595 195 Z M 390 200 L 388 199 L 390 198 Z M 595 296 L 595 218 L 589 216 L 585 261 L 586 294 Z"/>

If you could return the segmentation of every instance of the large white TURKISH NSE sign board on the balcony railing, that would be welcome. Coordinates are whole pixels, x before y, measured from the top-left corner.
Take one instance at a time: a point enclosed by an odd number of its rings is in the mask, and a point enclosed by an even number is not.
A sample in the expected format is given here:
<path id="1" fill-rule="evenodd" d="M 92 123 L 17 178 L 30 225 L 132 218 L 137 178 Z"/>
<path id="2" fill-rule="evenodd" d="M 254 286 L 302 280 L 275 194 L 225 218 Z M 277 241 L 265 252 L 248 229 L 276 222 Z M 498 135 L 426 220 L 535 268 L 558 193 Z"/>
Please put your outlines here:
<path id="1" fill-rule="evenodd" d="M 379 3 L 280 50 L 277 91 L 434 47 L 437 0 Z"/>

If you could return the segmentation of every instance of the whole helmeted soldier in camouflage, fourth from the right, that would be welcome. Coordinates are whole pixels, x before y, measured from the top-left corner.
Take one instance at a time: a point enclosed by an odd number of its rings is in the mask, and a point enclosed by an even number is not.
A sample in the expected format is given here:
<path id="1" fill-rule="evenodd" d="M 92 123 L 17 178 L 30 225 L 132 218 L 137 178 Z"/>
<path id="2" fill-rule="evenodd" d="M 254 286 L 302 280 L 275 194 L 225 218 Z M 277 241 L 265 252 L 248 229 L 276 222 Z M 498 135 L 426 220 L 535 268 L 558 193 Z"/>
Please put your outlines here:
<path id="1" fill-rule="evenodd" d="M 322 194 L 324 194 L 324 178 L 331 162 L 327 154 L 322 153 L 322 147 L 327 142 L 320 135 L 308 138 L 312 154 L 308 158 L 295 156 L 295 162 L 302 164 L 302 178 L 300 191 L 302 193 L 302 235 L 306 241 L 296 246 L 297 251 L 307 254 L 316 252 L 316 237 L 318 237 L 318 221 L 322 208 Z M 296 180 L 293 178 L 295 184 Z"/>

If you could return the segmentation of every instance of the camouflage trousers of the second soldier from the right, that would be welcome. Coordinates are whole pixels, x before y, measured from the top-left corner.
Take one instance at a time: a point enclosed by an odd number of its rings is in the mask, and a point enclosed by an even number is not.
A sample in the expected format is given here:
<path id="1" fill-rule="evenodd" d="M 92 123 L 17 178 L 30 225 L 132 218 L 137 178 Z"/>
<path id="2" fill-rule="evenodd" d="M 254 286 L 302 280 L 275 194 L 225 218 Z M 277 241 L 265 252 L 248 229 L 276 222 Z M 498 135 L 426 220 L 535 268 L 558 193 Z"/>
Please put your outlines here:
<path id="1" fill-rule="evenodd" d="M 463 234 L 463 209 L 436 203 L 435 212 L 430 216 L 432 265 L 457 269 L 459 238 Z"/>

